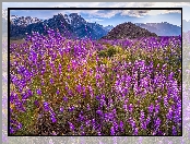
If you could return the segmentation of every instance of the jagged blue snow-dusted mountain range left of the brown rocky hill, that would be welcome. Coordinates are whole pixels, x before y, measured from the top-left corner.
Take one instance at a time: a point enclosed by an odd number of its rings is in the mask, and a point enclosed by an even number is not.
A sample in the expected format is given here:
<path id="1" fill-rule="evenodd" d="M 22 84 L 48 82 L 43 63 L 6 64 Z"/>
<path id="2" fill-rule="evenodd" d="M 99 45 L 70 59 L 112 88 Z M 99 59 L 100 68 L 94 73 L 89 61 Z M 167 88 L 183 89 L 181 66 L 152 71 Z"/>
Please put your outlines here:
<path id="1" fill-rule="evenodd" d="M 104 27 L 97 23 L 88 23 L 78 13 L 71 13 L 69 15 L 59 13 L 45 21 L 29 16 L 16 17 L 13 15 L 10 20 L 10 37 L 23 38 L 26 33 L 32 34 L 32 31 L 46 34 L 45 27 L 56 31 L 59 29 L 61 34 L 66 34 L 64 36 L 72 38 L 91 37 L 92 39 L 99 39 L 107 35 L 114 26 L 109 25 Z"/>

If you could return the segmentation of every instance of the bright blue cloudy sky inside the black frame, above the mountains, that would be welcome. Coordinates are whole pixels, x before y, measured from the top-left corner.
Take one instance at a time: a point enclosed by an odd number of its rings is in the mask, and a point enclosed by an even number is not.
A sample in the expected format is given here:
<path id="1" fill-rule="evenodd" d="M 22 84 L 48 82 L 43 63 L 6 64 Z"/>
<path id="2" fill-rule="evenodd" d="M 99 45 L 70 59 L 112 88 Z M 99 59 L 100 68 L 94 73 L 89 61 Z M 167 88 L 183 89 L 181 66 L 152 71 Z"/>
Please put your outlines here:
<path id="1" fill-rule="evenodd" d="M 181 11 L 175 10 L 11 10 L 11 15 L 32 16 L 47 20 L 58 13 L 78 13 L 87 22 L 100 25 L 118 25 L 124 22 L 132 23 L 162 23 L 181 25 Z"/>

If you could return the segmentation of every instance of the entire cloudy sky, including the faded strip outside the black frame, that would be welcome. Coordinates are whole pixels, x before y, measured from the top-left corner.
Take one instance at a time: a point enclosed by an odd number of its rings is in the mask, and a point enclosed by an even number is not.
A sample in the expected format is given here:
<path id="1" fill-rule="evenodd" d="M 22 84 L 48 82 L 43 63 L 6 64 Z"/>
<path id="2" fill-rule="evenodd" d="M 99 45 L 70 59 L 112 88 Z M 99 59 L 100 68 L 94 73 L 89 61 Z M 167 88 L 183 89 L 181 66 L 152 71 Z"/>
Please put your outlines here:
<path id="1" fill-rule="evenodd" d="M 2 2 L 2 9 L 7 8 L 182 8 L 182 20 L 190 20 L 190 2 Z M 79 13 L 87 22 L 96 22 L 100 25 L 118 25 L 123 22 L 132 23 L 162 23 L 167 22 L 174 25 L 181 25 L 180 11 L 167 10 L 152 10 L 152 11 L 138 11 L 138 10 L 122 10 L 122 11 L 13 11 L 11 14 L 19 16 L 33 16 L 38 19 L 50 19 L 58 13 Z"/>

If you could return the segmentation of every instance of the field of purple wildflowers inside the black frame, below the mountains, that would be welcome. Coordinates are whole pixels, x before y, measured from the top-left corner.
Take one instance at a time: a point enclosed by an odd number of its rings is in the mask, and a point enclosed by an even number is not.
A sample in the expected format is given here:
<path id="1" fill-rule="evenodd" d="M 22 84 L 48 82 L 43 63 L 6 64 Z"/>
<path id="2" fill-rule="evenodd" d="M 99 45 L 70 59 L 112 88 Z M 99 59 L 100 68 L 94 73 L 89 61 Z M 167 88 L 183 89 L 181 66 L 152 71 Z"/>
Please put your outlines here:
<path id="1" fill-rule="evenodd" d="M 11 135 L 181 135 L 181 37 L 10 46 Z"/>

